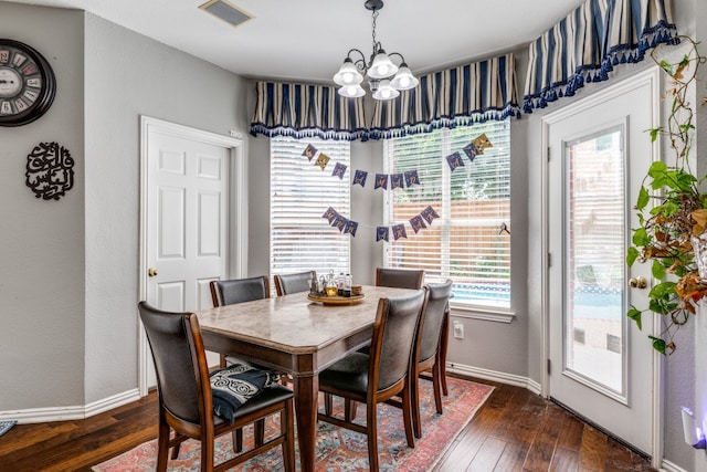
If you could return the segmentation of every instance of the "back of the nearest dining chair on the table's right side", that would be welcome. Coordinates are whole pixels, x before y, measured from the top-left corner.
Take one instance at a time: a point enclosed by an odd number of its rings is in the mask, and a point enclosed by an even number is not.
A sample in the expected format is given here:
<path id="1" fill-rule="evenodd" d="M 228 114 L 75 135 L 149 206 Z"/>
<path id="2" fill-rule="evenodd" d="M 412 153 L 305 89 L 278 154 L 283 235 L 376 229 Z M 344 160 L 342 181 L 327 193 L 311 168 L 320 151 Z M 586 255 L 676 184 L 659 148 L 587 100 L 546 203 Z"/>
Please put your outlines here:
<path id="1" fill-rule="evenodd" d="M 395 385 L 409 373 L 414 343 L 419 339 L 416 332 L 423 322 L 424 296 L 419 291 L 410 296 L 381 300 L 388 307 L 382 311 L 384 316 L 376 319 L 379 326 L 373 326 L 371 339 L 371 370 L 378 375 L 374 384 L 378 391 Z"/>

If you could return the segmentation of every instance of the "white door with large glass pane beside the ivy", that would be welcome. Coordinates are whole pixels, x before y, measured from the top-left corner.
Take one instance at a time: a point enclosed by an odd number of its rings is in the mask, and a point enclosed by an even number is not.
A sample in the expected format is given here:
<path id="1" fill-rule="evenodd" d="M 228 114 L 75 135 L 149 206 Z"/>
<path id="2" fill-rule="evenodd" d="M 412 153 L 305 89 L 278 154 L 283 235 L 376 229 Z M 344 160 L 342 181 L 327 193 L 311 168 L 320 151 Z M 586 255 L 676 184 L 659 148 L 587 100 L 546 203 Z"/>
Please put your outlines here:
<path id="1" fill-rule="evenodd" d="M 648 264 L 625 264 L 642 178 L 656 157 L 654 71 L 548 115 L 548 392 L 602 429 L 653 454 L 652 324 L 625 313 L 647 306 Z M 643 277 L 646 287 L 632 287 Z M 639 285 L 641 285 L 639 283 Z"/>

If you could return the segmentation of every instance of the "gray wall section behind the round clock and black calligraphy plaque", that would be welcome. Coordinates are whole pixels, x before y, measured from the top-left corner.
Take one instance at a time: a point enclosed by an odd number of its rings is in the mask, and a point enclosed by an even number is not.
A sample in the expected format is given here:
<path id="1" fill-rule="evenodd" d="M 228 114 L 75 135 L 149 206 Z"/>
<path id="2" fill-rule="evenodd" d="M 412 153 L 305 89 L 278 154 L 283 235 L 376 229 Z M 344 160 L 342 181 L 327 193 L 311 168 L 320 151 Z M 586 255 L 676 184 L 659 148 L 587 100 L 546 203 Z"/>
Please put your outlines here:
<path id="1" fill-rule="evenodd" d="M 0 127 L 0 410 L 84 403 L 83 14 L 0 3 L 0 36 L 24 42 L 57 81 L 40 119 Z M 59 201 L 24 185 L 27 156 L 56 141 L 75 160 Z"/>

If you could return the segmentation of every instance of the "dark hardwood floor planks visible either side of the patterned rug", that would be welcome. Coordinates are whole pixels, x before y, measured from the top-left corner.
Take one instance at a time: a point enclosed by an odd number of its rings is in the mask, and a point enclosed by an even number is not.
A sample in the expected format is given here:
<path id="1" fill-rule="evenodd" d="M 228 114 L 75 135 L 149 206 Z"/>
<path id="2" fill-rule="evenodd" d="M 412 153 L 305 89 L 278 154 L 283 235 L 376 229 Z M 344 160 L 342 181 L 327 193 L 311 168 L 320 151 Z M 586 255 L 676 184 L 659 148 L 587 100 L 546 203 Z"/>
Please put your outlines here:
<path id="1" fill-rule="evenodd" d="M 435 471 L 654 471 L 643 458 L 519 387 L 496 386 Z M 18 424 L 0 471 L 89 471 L 157 437 L 157 395 L 78 421 Z"/>

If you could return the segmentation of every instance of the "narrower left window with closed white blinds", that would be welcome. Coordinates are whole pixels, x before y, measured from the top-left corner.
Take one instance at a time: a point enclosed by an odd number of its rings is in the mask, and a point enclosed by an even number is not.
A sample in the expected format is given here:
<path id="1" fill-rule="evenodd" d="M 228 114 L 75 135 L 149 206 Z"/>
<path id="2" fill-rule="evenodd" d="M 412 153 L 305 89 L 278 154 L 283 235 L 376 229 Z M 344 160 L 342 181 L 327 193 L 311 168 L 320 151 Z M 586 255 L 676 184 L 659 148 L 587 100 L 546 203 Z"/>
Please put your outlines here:
<path id="1" fill-rule="evenodd" d="M 308 145 L 330 160 L 325 170 L 303 155 Z M 350 217 L 348 177 L 331 175 L 340 162 L 350 169 L 348 141 L 272 138 L 271 146 L 271 274 L 349 272 L 350 235 L 329 225 L 324 212 L 334 208 Z M 349 170 L 350 171 L 350 170 Z M 348 171 L 347 171 L 348 176 Z"/>

